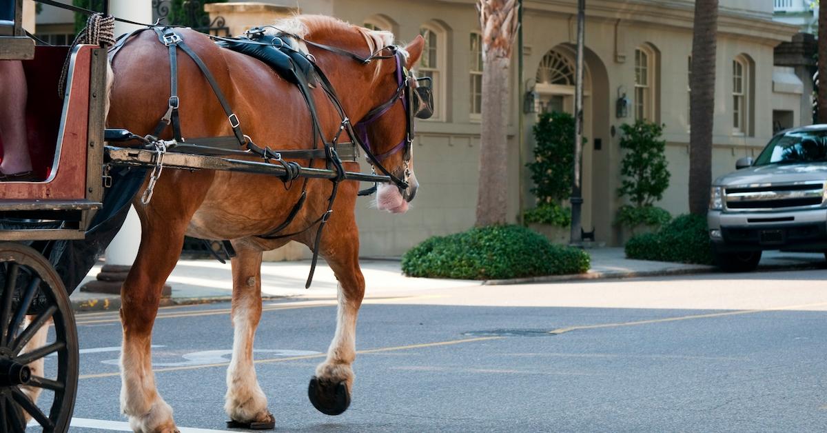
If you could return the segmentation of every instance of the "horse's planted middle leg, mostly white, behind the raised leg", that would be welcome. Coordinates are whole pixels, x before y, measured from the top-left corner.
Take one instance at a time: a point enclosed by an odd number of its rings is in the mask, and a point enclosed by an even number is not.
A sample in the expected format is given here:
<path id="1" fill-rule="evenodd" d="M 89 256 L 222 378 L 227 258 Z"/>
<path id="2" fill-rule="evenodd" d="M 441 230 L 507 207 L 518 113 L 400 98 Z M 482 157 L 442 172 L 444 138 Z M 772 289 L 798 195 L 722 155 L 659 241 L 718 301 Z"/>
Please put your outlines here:
<path id="1" fill-rule="evenodd" d="M 236 246 L 232 259 L 232 362 L 227 368 L 224 410 L 232 421 L 273 428 L 267 397 L 256 381 L 253 339 L 261 319 L 261 252 Z"/>

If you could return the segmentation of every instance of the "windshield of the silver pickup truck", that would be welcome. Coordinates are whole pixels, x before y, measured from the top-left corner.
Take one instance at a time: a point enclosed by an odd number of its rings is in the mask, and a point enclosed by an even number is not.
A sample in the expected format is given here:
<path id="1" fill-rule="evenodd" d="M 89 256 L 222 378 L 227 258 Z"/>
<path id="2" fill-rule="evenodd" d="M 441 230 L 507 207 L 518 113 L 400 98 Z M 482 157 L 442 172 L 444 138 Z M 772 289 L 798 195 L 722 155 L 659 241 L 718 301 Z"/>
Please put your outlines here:
<path id="1" fill-rule="evenodd" d="M 786 132 L 772 138 L 755 166 L 827 162 L 827 131 Z"/>

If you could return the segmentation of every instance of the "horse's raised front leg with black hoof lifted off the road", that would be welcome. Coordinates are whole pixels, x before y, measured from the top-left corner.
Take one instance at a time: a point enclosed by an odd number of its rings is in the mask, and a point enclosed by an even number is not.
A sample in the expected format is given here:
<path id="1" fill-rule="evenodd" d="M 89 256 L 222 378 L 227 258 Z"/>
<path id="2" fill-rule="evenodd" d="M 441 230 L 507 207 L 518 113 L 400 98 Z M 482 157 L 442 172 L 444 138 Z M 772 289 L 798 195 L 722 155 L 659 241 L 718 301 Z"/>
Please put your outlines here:
<path id="1" fill-rule="evenodd" d="M 352 221 L 352 219 L 351 219 Z M 356 359 L 356 315 L 365 296 L 365 278 L 359 267 L 359 238 L 356 224 L 347 229 L 328 228 L 325 258 L 339 280 L 336 334 L 327 349 L 327 359 L 310 380 L 308 397 L 313 407 L 327 415 L 340 415 L 351 403 L 353 368 Z M 350 236 L 342 236 L 351 233 Z"/>

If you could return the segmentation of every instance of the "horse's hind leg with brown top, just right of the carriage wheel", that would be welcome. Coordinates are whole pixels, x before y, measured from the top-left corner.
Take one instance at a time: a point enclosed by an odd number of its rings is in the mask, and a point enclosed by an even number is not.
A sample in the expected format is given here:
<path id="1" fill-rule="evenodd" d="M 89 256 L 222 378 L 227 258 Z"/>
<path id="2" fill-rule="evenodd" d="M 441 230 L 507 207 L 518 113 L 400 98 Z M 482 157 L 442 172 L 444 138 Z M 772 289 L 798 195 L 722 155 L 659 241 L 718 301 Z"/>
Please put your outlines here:
<path id="1" fill-rule="evenodd" d="M 121 411 L 133 431 L 172 433 L 178 429 L 155 387 L 150 348 L 161 290 L 178 262 L 186 223 L 155 215 L 141 218 L 141 248 L 121 289 Z"/>

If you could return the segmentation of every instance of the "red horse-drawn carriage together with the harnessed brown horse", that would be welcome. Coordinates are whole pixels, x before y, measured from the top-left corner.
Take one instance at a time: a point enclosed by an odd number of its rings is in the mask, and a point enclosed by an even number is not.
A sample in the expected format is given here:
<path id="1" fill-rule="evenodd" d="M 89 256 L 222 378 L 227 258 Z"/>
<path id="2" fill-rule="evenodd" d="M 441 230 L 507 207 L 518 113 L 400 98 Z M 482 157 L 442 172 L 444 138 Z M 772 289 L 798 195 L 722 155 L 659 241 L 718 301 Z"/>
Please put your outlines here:
<path id="1" fill-rule="evenodd" d="M 404 211 L 413 199 L 414 117 L 433 108 L 409 72 L 421 39 L 394 46 L 387 32 L 296 17 L 243 38 L 211 40 L 156 24 L 112 41 L 104 10 L 80 38 L 88 43 L 34 46 L 20 25 L 21 3 L 14 20 L 0 21 L 0 60 L 23 60 L 37 180 L 0 180 L 0 432 L 23 431 L 26 423 L 68 429 L 79 367 L 69 295 L 133 202 L 144 234 L 122 289 L 122 411 L 132 428 L 174 431 L 154 389 L 146 341 L 184 233 L 229 239 L 238 254 L 233 324 L 242 349 L 228 378 L 255 378 L 261 251 L 289 240 L 307 244 L 311 277 L 316 257 L 327 259 L 341 283 L 340 313 L 308 395 L 319 411 L 342 413 L 364 292 L 352 214 L 357 184 L 347 180 L 380 184 L 380 209 Z M 380 175 L 353 165 L 361 152 Z M 234 425 L 272 426 L 255 380 L 228 383 Z"/>

